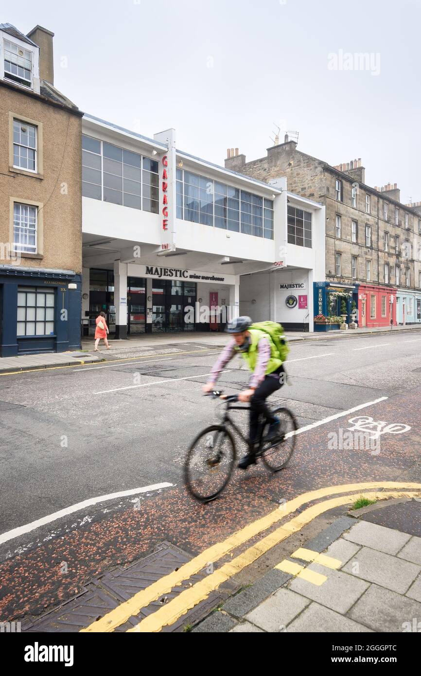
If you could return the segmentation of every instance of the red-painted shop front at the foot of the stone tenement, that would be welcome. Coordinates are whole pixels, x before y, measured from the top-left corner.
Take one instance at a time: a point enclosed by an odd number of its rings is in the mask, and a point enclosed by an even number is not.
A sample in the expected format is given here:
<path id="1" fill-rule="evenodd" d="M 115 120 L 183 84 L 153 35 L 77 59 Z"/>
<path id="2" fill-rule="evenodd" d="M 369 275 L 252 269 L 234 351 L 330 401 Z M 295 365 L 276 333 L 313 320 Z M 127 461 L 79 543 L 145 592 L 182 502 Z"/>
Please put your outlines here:
<path id="1" fill-rule="evenodd" d="M 358 287 L 358 326 L 390 327 L 391 318 L 396 326 L 396 289 L 376 284 Z"/>

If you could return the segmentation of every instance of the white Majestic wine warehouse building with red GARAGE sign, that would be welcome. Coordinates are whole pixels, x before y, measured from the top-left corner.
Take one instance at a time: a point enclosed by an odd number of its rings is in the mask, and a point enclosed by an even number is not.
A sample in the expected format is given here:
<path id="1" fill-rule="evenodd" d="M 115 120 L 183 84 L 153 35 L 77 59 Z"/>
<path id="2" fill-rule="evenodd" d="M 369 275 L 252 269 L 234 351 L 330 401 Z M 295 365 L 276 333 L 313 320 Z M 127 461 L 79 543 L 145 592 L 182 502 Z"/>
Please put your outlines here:
<path id="1" fill-rule="evenodd" d="M 313 330 L 324 207 L 176 149 L 173 129 L 149 139 L 85 115 L 82 130 L 85 334 L 101 310 L 120 338 L 218 329 L 212 306 Z"/>

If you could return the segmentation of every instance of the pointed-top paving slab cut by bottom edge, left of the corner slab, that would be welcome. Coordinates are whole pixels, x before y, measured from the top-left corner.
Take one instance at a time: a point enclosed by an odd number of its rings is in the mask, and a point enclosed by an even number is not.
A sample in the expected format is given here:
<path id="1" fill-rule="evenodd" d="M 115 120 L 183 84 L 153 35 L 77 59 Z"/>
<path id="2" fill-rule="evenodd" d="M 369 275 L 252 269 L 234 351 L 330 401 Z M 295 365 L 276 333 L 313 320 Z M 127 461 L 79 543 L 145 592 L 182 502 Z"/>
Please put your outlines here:
<path id="1" fill-rule="evenodd" d="M 287 631 L 291 633 L 301 631 L 305 633 L 358 633 L 362 631 L 372 632 L 372 629 L 368 629 L 368 627 L 350 620 L 334 610 L 324 608 L 318 603 L 312 603 L 301 612 L 297 619 L 288 625 Z"/>

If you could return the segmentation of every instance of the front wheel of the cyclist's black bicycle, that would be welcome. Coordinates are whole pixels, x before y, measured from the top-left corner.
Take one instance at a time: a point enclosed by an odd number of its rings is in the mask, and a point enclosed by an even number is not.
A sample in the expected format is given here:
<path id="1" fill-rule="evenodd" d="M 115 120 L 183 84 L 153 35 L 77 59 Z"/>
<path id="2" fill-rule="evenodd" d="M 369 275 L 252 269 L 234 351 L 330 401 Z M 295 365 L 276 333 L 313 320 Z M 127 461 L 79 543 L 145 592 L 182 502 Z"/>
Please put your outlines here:
<path id="1" fill-rule="evenodd" d="M 203 430 L 191 444 L 184 462 L 184 483 L 193 498 L 209 502 L 226 487 L 235 462 L 235 443 L 223 425 Z"/>

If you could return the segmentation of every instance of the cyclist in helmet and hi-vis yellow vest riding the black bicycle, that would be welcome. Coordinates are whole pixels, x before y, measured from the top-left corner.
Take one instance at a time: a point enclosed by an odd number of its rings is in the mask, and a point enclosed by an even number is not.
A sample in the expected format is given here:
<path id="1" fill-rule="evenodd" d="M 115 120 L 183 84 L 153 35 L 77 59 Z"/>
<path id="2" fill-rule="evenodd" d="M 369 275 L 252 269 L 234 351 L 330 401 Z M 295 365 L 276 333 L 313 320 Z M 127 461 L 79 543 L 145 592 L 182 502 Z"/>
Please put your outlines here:
<path id="1" fill-rule="evenodd" d="M 268 434 L 265 439 L 270 441 L 276 437 L 280 421 L 270 414 L 266 406 L 266 399 L 283 385 L 284 373 L 282 360 L 279 358 L 272 339 L 267 333 L 257 329 L 251 329 L 250 317 L 241 316 L 226 325 L 226 333 L 232 335 L 228 345 L 222 350 L 211 377 L 203 392 L 211 392 L 215 389 L 215 383 L 226 364 L 236 354 L 242 354 L 247 362 L 252 375 L 249 387 L 239 393 L 240 402 L 250 402 L 250 427 L 249 427 L 249 452 L 239 462 L 241 469 L 247 469 L 251 464 L 256 464 L 256 451 L 259 441 L 259 416 L 264 414 L 270 423 Z"/>

